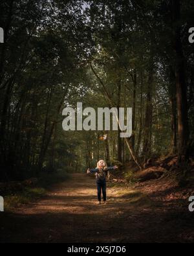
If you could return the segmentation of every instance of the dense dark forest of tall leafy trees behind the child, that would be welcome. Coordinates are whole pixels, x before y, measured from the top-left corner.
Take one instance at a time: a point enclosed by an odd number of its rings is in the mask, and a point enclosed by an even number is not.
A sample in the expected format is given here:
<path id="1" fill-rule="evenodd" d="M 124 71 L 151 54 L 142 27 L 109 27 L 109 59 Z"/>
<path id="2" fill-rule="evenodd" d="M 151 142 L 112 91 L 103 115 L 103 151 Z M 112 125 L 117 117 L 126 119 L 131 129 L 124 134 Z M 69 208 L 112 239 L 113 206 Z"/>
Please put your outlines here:
<path id="1" fill-rule="evenodd" d="M 191 0 L 0 3 L 0 179 L 194 152 Z M 133 135 L 62 129 L 62 110 L 131 107 Z M 107 133 L 107 140 L 99 137 Z"/>

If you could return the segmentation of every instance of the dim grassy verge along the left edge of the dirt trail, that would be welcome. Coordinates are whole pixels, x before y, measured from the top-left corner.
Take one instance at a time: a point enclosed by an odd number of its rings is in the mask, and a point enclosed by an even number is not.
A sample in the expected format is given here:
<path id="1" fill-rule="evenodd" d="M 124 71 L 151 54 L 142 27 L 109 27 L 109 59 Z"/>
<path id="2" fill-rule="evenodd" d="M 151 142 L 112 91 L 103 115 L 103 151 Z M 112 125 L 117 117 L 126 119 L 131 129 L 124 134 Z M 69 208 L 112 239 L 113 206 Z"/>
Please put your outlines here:
<path id="1" fill-rule="evenodd" d="M 35 187 L 24 187 L 22 191 L 10 192 L 4 197 L 5 211 L 13 211 L 23 204 L 29 204 L 33 200 L 37 200 L 45 196 L 48 189 L 56 183 L 61 183 L 69 178 L 69 174 L 65 171 L 41 173 L 38 184 Z"/>

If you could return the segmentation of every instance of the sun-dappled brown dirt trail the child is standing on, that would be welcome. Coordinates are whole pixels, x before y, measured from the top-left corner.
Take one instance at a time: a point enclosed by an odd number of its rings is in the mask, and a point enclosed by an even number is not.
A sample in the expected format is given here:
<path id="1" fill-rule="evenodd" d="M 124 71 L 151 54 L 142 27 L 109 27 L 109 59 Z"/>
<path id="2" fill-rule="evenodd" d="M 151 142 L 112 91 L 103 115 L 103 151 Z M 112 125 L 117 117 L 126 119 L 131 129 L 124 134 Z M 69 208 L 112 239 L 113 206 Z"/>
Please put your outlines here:
<path id="1" fill-rule="evenodd" d="M 161 195 L 160 195 L 161 196 Z M 45 198 L 1 216 L 1 242 L 193 242 L 193 215 L 130 188 L 108 188 L 96 205 L 94 177 L 72 174 Z"/>

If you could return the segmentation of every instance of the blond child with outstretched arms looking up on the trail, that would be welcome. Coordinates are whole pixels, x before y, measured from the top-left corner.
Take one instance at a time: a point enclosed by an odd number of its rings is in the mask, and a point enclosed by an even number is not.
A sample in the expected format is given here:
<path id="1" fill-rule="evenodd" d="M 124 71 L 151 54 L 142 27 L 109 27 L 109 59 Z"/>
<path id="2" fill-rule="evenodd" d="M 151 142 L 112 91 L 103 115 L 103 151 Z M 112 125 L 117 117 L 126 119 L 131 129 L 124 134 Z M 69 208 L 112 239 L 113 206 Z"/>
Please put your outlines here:
<path id="1" fill-rule="evenodd" d="M 118 167 L 107 167 L 105 161 L 100 160 L 97 163 L 96 169 L 87 169 L 87 173 L 96 173 L 96 185 L 98 191 L 98 204 L 101 204 L 101 192 L 103 194 L 103 202 L 106 204 L 107 194 L 106 194 L 106 176 L 109 170 L 115 170 Z"/>

